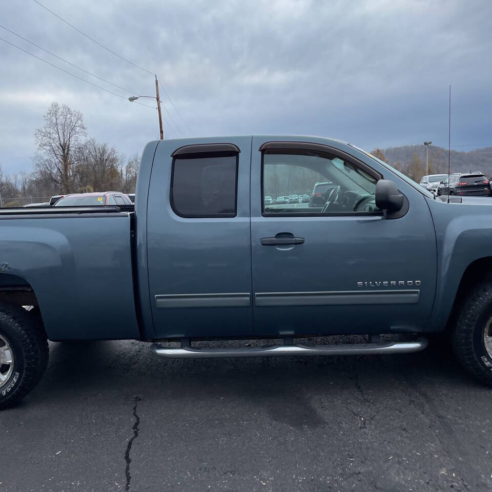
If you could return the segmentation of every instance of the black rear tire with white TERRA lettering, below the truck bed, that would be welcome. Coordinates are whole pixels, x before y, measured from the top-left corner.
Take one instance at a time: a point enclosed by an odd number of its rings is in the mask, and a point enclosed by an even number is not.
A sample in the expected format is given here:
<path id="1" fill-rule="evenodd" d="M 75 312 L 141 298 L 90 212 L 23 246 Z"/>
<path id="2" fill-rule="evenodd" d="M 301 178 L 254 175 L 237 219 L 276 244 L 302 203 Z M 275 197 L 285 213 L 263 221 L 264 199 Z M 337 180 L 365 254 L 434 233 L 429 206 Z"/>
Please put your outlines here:
<path id="1" fill-rule="evenodd" d="M 11 364 L 0 366 L 0 410 L 24 398 L 42 378 L 48 363 L 48 340 L 35 313 L 20 306 L 0 304 L 0 355 L 9 345 Z M 7 357 L 6 359 L 7 360 Z"/>

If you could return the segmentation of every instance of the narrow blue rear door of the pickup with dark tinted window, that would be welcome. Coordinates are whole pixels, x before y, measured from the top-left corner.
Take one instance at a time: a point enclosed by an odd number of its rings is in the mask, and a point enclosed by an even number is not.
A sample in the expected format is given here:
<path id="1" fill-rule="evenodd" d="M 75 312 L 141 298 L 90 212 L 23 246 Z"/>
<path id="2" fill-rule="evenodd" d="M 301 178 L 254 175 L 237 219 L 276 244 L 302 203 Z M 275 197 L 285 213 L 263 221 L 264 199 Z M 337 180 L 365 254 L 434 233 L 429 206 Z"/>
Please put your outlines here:
<path id="1" fill-rule="evenodd" d="M 156 338 L 252 331 L 251 137 L 160 141 L 147 208 Z"/>

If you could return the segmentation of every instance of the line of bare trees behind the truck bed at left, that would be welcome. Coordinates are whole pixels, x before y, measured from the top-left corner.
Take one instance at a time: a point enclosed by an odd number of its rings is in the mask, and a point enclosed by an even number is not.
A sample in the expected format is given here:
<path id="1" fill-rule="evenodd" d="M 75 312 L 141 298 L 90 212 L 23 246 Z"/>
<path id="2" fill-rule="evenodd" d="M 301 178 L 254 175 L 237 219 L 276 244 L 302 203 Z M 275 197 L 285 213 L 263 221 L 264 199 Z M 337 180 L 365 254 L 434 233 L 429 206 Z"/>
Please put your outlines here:
<path id="1" fill-rule="evenodd" d="M 3 206 L 22 206 L 26 197 L 121 191 L 135 193 L 140 159 L 127 158 L 106 142 L 88 137 L 84 116 L 67 105 L 52 103 L 44 125 L 34 132 L 37 152 L 32 172 L 6 175 L 0 165 Z"/>

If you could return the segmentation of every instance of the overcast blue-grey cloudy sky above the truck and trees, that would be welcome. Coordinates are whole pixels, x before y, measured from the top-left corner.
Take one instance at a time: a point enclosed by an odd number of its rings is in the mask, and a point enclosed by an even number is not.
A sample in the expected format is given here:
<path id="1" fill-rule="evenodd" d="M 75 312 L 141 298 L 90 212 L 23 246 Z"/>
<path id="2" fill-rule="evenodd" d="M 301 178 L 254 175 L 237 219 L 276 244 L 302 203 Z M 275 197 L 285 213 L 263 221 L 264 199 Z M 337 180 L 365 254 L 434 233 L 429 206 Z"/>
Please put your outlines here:
<path id="1" fill-rule="evenodd" d="M 197 136 L 310 134 L 374 147 L 492 145 L 490 0 L 39 0 L 99 43 L 155 72 Z M 153 75 L 112 55 L 34 0 L 0 2 L 0 25 L 99 77 L 152 95 Z M 0 28 L 0 37 L 128 97 Z M 191 135 L 170 100 L 165 137 Z M 0 40 L 0 164 L 31 169 L 52 101 L 126 155 L 158 137 L 137 106 Z M 141 99 L 152 106 L 152 99 Z M 155 106 L 154 106 L 155 108 Z M 173 130 L 171 130 L 171 128 Z M 466 147 L 465 147 L 466 146 Z"/>

